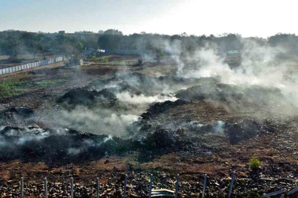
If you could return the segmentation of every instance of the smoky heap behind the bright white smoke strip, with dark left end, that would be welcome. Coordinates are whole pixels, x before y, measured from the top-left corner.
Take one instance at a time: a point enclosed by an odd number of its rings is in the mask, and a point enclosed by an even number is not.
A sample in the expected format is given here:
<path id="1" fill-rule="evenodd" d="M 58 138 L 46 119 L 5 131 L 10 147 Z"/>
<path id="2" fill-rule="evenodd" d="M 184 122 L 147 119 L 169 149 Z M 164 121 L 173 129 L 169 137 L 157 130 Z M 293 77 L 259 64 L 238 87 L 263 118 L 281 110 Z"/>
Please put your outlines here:
<path id="1" fill-rule="evenodd" d="M 130 94 L 146 96 L 162 93 L 165 87 L 178 84 L 188 85 L 196 79 L 178 78 L 175 76 L 151 77 L 134 72 L 131 74 L 115 75 L 112 78 L 94 80 L 88 86 L 74 88 L 57 99 L 57 102 L 70 104 L 90 104 L 114 100 L 116 94 L 129 92 Z M 97 91 L 100 90 L 100 91 Z"/>

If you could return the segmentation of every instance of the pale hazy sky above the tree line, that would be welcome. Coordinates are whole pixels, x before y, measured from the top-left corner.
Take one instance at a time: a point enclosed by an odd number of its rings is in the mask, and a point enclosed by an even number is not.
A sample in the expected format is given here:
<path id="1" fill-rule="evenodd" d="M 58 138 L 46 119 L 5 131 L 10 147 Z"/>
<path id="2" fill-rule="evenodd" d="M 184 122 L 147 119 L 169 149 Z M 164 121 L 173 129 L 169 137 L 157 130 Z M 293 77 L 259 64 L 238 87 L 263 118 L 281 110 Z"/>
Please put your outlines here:
<path id="1" fill-rule="evenodd" d="M 0 30 L 298 34 L 297 0 L 0 0 Z"/>

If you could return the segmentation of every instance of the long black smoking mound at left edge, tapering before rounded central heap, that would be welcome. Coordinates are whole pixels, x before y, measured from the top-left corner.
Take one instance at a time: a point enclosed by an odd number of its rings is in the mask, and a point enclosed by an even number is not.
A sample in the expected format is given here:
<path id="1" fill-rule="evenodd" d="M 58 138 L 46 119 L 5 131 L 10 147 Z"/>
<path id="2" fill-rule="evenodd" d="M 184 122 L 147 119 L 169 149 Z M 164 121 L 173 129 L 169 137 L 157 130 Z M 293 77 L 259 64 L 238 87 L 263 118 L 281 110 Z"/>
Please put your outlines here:
<path id="1" fill-rule="evenodd" d="M 74 160 L 100 158 L 140 148 L 140 142 L 74 129 L 58 133 L 37 127 L 0 129 L 0 161 Z"/>

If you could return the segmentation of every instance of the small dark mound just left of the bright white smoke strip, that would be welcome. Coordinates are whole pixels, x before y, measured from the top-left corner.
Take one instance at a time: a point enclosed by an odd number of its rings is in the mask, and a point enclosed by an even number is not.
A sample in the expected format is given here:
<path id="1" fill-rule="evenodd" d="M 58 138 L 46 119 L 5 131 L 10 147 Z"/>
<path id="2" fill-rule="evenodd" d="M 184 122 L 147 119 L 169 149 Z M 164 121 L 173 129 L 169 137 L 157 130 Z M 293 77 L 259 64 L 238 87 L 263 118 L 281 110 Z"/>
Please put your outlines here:
<path id="1" fill-rule="evenodd" d="M 57 102 L 68 102 L 69 104 L 89 104 L 92 102 L 100 102 L 115 99 L 116 96 L 108 89 L 99 92 L 96 90 L 87 90 L 86 88 L 74 88 L 60 97 Z"/>

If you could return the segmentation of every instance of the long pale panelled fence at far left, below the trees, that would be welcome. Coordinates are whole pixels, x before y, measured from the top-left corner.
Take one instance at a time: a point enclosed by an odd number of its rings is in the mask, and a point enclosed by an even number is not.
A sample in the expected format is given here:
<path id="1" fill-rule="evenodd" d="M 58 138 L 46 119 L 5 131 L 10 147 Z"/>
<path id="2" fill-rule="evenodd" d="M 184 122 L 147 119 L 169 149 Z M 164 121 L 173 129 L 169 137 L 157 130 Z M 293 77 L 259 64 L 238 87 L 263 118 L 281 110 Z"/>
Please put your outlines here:
<path id="1" fill-rule="evenodd" d="M 47 60 L 40 60 L 40 61 L 30 62 L 30 63 L 17 65 L 17 66 L 13 66 L 13 67 L 7 67 L 7 68 L 0 69 L 0 75 L 9 74 L 9 73 L 22 71 L 22 70 L 26 70 L 26 69 L 31 69 L 31 68 L 35 68 L 35 67 L 39 67 L 39 66 L 43 66 L 43 65 L 53 64 L 56 62 L 62 62 L 62 61 L 68 60 L 68 59 L 69 59 L 68 57 L 59 56 L 59 57 L 51 58 L 51 59 L 47 59 Z"/>

